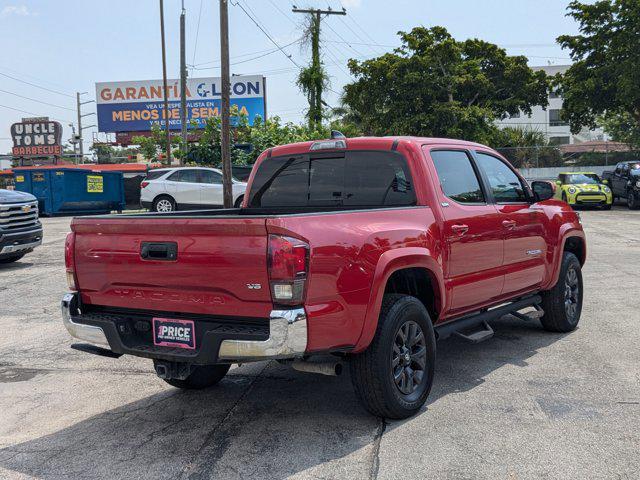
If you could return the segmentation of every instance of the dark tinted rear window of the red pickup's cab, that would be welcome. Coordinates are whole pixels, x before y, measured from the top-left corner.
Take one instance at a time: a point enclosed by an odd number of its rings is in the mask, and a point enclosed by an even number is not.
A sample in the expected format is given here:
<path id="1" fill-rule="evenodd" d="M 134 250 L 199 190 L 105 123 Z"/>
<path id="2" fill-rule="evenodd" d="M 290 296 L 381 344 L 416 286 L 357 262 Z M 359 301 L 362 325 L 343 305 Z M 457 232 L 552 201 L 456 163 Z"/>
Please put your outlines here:
<path id="1" fill-rule="evenodd" d="M 415 205 L 406 161 L 387 151 L 335 157 L 276 157 L 258 168 L 251 207 L 382 207 Z"/>

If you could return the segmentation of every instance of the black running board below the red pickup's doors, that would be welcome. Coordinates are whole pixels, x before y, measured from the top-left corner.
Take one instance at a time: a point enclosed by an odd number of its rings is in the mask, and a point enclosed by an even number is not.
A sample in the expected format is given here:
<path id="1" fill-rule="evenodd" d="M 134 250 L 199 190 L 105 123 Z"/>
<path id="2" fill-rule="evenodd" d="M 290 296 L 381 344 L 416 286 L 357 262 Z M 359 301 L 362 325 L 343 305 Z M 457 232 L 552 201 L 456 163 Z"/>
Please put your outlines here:
<path id="1" fill-rule="evenodd" d="M 491 329 L 487 322 L 491 320 L 497 320 L 501 317 L 504 317 L 505 315 L 517 313 L 518 310 L 522 310 L 523 308 L 527 307 L 534 307 L 536 309 L 536 316 L 541 316 L 544 312 L 542 312 L 542 309 L 540 308 L 540 303 L 542 303 L 542 297 L 540 297 L 540 295 L 534 295 L 532 297 L 516 300 L 515 302 L 509 303 L 507 305 L 502 305 L 491 310 L 486 310 L 475 313 L 473 315 L 456 318 L 441 325 L 435 325 L 434 329 L 436 338 L 438 340 L 443 340 L 450 337 L 451 335 L 456 335 L 473 343 L 487 340 L 493 335 L 493 329 Z M 518 318 L 522 318 L 520 314 L 516 316 Z M 472 334 L 462 333 L 469 330 L 478 329 L 479 331 Z"/>

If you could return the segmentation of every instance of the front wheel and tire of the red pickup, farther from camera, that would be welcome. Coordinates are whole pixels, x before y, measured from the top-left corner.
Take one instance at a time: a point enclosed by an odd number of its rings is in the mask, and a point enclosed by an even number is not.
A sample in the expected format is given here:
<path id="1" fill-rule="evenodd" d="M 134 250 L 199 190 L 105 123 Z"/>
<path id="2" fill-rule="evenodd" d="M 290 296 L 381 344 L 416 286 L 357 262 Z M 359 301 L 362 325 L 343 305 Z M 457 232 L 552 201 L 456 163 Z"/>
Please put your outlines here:
<path id="1" fill-rule="evenodd" d="M 558 282 L 551 290 L 542 292 L 543 328 L 563 333 L 575 330 L 582 313 L 582 297 L 580 261 L 573 253 L 564 252 Z"/>

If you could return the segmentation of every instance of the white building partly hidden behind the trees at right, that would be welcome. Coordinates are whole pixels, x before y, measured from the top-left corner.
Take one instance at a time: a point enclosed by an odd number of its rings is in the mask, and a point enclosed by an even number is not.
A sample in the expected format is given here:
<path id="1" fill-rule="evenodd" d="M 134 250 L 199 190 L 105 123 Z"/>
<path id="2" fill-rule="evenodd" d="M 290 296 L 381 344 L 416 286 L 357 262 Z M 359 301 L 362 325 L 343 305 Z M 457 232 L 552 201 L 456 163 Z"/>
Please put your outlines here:
<path id="1" fill-rule="evenodd" d="M 544 70 L 547 75 L 553 76 L 557 73 L 564 73 L 570 65 L 549 65 L 546 67 L 531 67 L 534 71 Z M 545 134 L 550 144 L 566 145 L 582 143 L 594 140 L 608 140 L 601 128 L 595 130 L 583 129 L 574 135 L 569 129 L 569 124 L 561 120 L 562 96 L 557 93 L 549 95 L 549 105 L 546 110 L 540 106 L 531 109 L 531 115 L 520 112 L 512 117 L 505 118 L 497 122 L 499 127 L 526 128 L 538 130 Z"/>

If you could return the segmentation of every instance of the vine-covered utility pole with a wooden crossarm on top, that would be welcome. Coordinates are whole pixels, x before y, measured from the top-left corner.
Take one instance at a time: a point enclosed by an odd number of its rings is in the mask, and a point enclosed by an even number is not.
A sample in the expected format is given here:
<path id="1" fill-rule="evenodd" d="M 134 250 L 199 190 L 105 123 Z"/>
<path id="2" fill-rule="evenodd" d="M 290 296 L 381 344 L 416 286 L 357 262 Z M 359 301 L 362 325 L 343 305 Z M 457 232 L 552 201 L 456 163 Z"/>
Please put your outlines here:
<path id="1" fill-rule="evenodd" d="M 311 16 L 311 24 L 309 32 L 311 34 L 311 66 L 307 67 L 313 72 L 313 84 L 308 85 L 309 99 L 309 128 L 317 128 L 322 123 L 322 90 L 324 88 L 324 78 L 322 73 L 322 64 L 320 62 L 320 23 L 322 15 L 346 15 L 347 11 L 342 10 L 321 10 L 317 8 L 294 8 L 293 13 L 304 13 Z"/>

